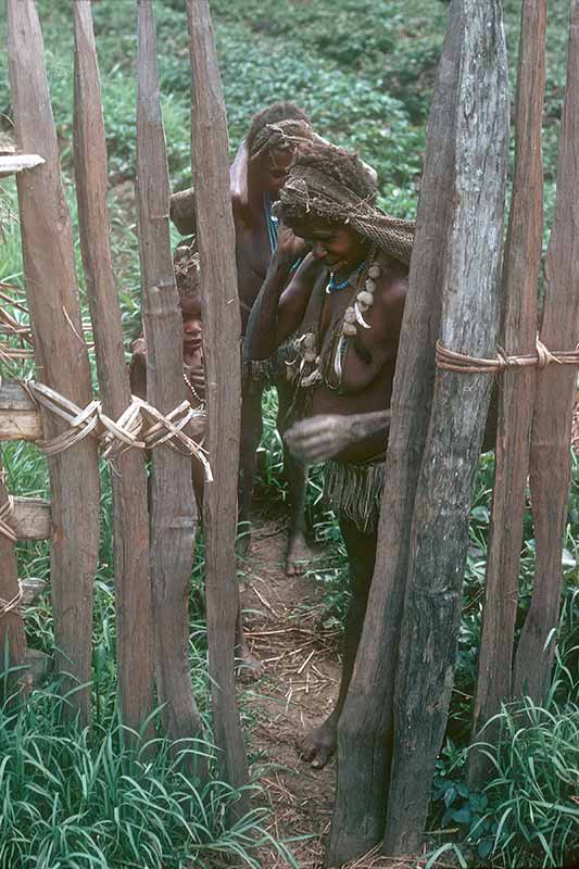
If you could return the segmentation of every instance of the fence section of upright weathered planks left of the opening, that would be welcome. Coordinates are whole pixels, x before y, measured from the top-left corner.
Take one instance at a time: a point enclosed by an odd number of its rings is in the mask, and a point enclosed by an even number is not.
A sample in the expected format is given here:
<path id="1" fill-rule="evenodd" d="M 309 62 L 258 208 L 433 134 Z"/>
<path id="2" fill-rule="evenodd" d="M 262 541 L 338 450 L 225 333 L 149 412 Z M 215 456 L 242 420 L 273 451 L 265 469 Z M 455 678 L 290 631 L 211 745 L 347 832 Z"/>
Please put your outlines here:
<path id="1" fill-rule="evenodd" d="M 163 705 L 166 733 L 203 734 L 189 668 L 188 589 L 197 530 L 188 425 L 199 415 L 181 377 L 181 316 L 169 245 L 169 182 L 156 72 L 152 0 L 137 4 L 137 203 L 142 313 L 148 339 L 148 401 L 134 400 L 125 365 L 121 310 L 106 206 L 106 150 L 90 0 L 74 9 L 74 161 L 78 232 L 87 286 L 100 396 L 90 385 L 88 348 L 74 263 L 74 239 L 60 158 L 43 45 L 34 0 L 9 0 L 10 83 L 16 153 L 0 158 L 16 173 L 30 331 L 0 310 L 4 362 L 34 349 L 36 379 L 0 383 L 0 440 L 40 442 L 49 463 L 51 502 L 10 496 L 0 476 L 0 641 L 11 665 L 26 664 L 16 540 L 50 537 L 55 670 L 73 714 L 90 723 L 92 589 L 99 527 L 99 450 L 112 468 L 116 663 L 123 720 L 150 735 L 150 715 Z M 193 128 L 214 121 L 211 142 L 194 138 L 193 175 L 211 164 L 198 199 L 203 336 L 212 464 L 204 494 L 210 671 L 217 760 L 232 785 L 247 782 L 235 695 L 234 632 L 238 605 L 235 564 L 236 480 L 240 417 L 240 323 L 237 303 L 228 142 L 209 5 L 187 3 L 191 38 Z M 184 26 L 185 26 L 184 14 Z M 215 119 L 218 123 L 215 123 Z M 201 189 L 201 185 L 200 185 Z M 216 211 L 211 207 L 221 203 Z M 219 231 L 215 230 L 218 222 Z M 228 226 L 228 232 L 224 232 Z M 209 239 L 211 238 L 211 247 Z M 211 286 L 211 307 L 205 287 Z M 9 297 L 3 297 L 3 301 Z M 21 347 L 7 336 L 17 337 Z M 33 338 L 34 336 L 34 338 Z M 22 343 L 24 342 L 24 344 Z M 10 349 L 7 350 L 10 344 Z M 3 350 L 2 350 L 3 348 Z M 8 356 L 7 356 L 8 352 Z M 228 376 L 219 373 L 227 364 Z M 8 369 L 8 368 L 7 368 Z M 218 385 L 218 386 L 217 386 Z M 144 450 L 152 451 L 150 511 Z M 209 468 L 209 465 L 207 465 Z M 1 468 L 0 468 L 1 470 Z M 149 515 L 150 512 L 150 515 Z M 217 519 L 218 516 L 218 519 Z M 24 670 L 26 672 L 26 670 Z M 29 679 L 20 678 L 23 689 Z M 181 746 L 182 747 L 182 746 Z M 200 777 L 206 764 L 194 755 Z M 194 763 L 193 763 L 194 761 Z M 236 811 L 247 809 L 247 796 Z"/>

